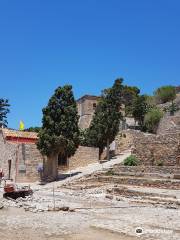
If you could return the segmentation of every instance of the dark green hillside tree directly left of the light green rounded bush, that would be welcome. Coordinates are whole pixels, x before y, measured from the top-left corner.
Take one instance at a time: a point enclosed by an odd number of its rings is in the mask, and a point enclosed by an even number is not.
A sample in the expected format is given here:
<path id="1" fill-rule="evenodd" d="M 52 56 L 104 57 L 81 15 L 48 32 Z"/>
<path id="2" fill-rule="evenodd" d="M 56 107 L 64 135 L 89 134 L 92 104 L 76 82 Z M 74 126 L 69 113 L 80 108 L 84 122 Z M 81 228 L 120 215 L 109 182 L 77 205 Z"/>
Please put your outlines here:
<path id="1" fill-rule="evenodd" d="M 148 111 L 148 104 L 145 95 L 138 95 L 132 103 L 132 116 L 140 127 L 143 127 L 144 116 Z"/>

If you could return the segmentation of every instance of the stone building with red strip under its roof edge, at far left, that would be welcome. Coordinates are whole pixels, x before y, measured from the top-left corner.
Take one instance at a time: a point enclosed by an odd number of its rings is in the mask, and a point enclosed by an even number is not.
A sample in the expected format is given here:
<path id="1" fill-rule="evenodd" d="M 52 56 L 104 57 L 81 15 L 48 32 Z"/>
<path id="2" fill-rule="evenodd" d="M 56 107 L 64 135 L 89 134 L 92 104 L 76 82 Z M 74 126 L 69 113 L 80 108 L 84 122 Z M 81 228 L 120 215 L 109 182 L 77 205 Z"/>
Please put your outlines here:
<path id="1" fill-rule="evenodd" d="M 0 129 L 0 167 L 5 177 L 17 182 L 35 181 L 43 158 L 36 148 L 37 134 Z"/>

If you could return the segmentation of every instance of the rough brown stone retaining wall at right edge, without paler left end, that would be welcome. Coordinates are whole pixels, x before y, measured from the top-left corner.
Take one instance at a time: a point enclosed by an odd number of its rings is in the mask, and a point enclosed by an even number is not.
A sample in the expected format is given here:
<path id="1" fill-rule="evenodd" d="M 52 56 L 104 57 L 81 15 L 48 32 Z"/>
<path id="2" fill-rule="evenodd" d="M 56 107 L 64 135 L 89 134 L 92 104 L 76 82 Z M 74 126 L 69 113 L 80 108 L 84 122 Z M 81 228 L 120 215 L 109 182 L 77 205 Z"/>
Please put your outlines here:
<path id="1" fill-rule="evenodd" d="M 134 138 L 132 154 L 144 165 L 180 164 L 180 135 L 143 134 Z"/>

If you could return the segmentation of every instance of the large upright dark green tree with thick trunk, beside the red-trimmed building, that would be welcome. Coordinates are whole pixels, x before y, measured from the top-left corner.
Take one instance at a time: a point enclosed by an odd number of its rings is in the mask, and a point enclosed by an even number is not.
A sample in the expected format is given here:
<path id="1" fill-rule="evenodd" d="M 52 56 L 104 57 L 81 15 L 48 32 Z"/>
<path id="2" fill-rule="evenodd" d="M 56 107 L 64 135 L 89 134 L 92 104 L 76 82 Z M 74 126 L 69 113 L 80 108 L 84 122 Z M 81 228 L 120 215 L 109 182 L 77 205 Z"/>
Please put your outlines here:
<path id="1" fill-rule="evenodd" d="M 45 175 L 58 175 L 58 155 L 72 156 L 79 145 L 78 113 L 72 86 L 58 87 L 43 109 L 38 149 L 47 156 Z"/>

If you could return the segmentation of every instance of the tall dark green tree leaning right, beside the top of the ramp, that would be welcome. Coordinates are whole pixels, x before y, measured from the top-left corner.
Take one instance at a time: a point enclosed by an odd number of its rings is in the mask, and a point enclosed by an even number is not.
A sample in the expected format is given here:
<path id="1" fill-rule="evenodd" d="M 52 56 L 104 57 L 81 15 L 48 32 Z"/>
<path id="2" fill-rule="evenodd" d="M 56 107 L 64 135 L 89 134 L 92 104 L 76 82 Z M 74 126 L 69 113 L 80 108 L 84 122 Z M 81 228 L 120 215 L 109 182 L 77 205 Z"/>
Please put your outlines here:
<path id="1" fill-rule="evenodd" d="M 109 159 L 109 144 L 114 140 L 119 131 L 119 123 L 122 119 L 120 112 L 122 105 L 122 79 L 117 79 L 112 88 L 102 92 L 91 125 L 87 130 L 87 142 L 90 146 L 99 147 L 100 155 L 104 147 L 107 147 L 107 159 Z"/>

